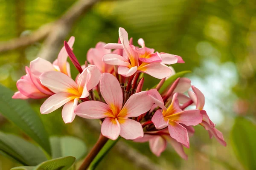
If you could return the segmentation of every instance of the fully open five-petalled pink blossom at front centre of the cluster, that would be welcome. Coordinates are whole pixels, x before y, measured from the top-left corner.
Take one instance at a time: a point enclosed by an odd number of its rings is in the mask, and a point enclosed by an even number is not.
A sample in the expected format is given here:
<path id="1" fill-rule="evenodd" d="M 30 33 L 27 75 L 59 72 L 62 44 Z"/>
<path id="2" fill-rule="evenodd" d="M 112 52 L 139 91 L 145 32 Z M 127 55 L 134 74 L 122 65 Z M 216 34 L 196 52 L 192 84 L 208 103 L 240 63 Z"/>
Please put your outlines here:
<path id="1" fill-rule="evenodd" d="M 143 137 L 141 124 L 128 118 L 137 117 L 149 111 L 158 98 L 154 97 L 156 95 L 154 91 L 133 94 L 122 106 L 121 86 L 116 77 L 108 73 L 102 74 L 100 91 L 107 104 L 99 101 L 83 102 L 76 107 L 76 115 L 86 119 L 105 118 L 102 122 L 101 133 L 112 140 L 116 140 L 119 135 L 125 139 Z"/>

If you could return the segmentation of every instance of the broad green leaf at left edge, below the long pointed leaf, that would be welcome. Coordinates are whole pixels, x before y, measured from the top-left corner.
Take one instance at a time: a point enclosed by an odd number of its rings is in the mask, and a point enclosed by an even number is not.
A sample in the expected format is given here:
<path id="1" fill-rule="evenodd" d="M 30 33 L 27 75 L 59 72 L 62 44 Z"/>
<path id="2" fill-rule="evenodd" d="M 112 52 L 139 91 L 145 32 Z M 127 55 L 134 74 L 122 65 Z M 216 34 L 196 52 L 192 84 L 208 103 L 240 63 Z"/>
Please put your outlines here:
<path id="1" fill-rule="evenodd" d="M 47 158 L 41 148 L 11 134 L 0 132 L 0 154 L 12 157 L 24 165 L 37 165 Z"/>

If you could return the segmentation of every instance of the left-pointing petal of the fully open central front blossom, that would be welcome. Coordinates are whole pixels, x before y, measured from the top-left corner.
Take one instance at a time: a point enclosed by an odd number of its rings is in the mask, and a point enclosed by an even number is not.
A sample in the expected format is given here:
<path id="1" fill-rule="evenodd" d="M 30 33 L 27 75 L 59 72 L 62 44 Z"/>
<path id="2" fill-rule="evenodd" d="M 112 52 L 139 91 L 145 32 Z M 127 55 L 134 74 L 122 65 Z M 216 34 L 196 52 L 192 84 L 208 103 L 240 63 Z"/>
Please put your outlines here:
<path id="1" fill-rule="evenodd" d="M 85 119 L 102 119 L 112 114 L 109 106 L 99 101 L 82 102 L 76 107 L 75 113 Z"/>

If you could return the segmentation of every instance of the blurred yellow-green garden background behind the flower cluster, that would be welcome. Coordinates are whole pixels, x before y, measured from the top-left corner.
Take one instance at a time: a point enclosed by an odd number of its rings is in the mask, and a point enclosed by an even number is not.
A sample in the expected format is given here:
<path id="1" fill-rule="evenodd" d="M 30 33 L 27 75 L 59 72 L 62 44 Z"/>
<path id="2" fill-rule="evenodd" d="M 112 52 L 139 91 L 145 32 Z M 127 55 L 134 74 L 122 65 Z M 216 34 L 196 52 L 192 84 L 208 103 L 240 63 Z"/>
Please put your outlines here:
<path id="1" fill-rule="evenodd" d="M 58 20 L 74 0 L 0 0 L 0 41 L 31 34 L 44 24 Z M 113 0 L 96 3 L 81 15 L 65 40 L 75 36 L 74 53 L 79 62 L 99 41 L 117 42 L 118 28 L 129 37 L 143 38 L 146 46 L 183 57 L 185 64 L 172 65 L 187 74 L 206 96 L 205 110 L 224 134 L 227 147 L 209 139 L 203 127 L 196 127 L 185 149 L 188 161 L 169 147 L 158 158 L 148 143 L 126 141 L 137 150 L 134 158 L 114 147 L 99 164 L 99 170 L 145 170 L 134 163 L 140 155 L 166 170 L 253 170 L 256 169 L 256 1 L 255 0 Z M 0 83 L 17 91 L 16 81 L 24 67 L 38 56 L 44 40 L 0 53 Z M 61 49 L 61 46 L 53 47 Z M 58 53 L 57 53 L 58 54 Z M 55 57 L 57 57 L 57 54 Z M 51 59 L 53 60 L 53 59 Z M 77 71 L 72 66 L 72 75 Z M 159 80 L 146 77 L 145 87 Z M 35 111 L 44 101 L 28 100 Z M 61 111 L 41 115 L 50 135 L 72 135 L 83 139 L 88 150 L 99 131 L 76 118 L 65 125 Z M 0 130 L 26 136 L 0 117 Z M 125 140 L 122 140 L 125 142 Z M 72 146 L 70 146 L 72 147 Z M 137 157 L 138 156 L 138 157 Z M 15 167 L 0 156 L 0 169 Z"/>

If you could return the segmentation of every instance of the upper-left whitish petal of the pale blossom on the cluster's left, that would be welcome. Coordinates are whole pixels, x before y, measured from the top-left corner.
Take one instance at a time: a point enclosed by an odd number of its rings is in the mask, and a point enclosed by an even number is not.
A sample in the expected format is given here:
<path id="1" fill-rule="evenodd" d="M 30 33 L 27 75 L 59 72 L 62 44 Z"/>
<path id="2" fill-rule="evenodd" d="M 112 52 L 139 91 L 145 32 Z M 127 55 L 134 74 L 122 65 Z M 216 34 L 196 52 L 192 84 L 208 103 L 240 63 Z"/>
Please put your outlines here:
<path id="1" fill-rule="evenodd" d="M 79 96 L 76 82 L 66 74 L 58 71 L 48 71 L 40 77 L 42 85 L 54 93 L 67 92 Z"/>

